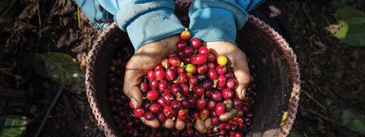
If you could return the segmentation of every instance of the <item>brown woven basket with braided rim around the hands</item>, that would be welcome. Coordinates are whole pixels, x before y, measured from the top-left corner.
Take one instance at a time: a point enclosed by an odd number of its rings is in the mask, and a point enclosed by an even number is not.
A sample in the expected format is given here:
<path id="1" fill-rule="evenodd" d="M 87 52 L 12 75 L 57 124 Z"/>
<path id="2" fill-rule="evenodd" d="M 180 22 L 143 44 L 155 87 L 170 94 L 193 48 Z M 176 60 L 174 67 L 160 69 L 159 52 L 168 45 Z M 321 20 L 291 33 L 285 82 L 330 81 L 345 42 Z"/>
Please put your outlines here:
<path id="1" fill-rule="evenodd" d="M 238 32 L 236 43 L 257 66 L 255 117 L 247 136 L 288 136 L 299 103 L 297 56 L 281 35 L 252 15 Z M 108 137 L 121 136 L 112 121 L 106 91 L 110 60 L 123 46 L 131 47 L 129 37 L 112 23 L 95 40 L 86 68 L 88 101 L 99 127 Z M 287 119 L 280 124 L 284 112 L 288 112 Z"/>

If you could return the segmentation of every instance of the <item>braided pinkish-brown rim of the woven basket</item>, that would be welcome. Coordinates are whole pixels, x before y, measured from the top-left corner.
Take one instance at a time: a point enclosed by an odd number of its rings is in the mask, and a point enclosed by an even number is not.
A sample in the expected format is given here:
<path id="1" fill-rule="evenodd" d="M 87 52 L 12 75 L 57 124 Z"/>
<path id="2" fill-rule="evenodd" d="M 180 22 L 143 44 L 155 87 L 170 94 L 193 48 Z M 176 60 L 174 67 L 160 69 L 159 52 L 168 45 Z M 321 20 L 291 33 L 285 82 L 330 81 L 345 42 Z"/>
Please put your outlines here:
<path id="1" fill-rule="evenodd" d="M 279 136 L 288 136 L 290 129 L 292 129 L 292 125 L 294 124 L 294 120 L 296 119 L 297 110 L 299 106 L 299 96 L 300 96 L 300 89 L 301 89 L 301 80 L 300 80 L 300 73 L 299 73 L 299 64 L 297 62 L 297 55 L 294 53 L 292 48 L 289 46 L 288 42 L 272 27 L 261 21 L 259 18 L 249 14 L 249 23 L 252 23 L 256 27 L 262 29 L 265 35 L 270 36 L 271 40 L 275 41 L 275 43 L 281 48 L 281 51 L 284 53 L 284 57 L 288 60 L 288 64 L 290 65 L 290 70 L 292 73 L 292 80 L 293 80 L 293 88 L 291 92 L 291 96 L 288 103 L 288 110 L 286 112 L 287 116 L 284 121 L 284 124 L 280 125 L 280 132 Z M 95 73 L 95 62 L 97 60 L 97 56 L 101 51 L 101 47 L 105 38 L 107 38 L 114 29 L 119 29 L 116 23 L 112 23 L 105 31 L 101 33 L 101 35 L 95 40 L 94 44 L 92 45 L 92 49 L 89 52 L 88 56 L 88 64 L 86 66 L 86 95 L 88 97 L 88 102 L 90 103 L 90 108 L 92 109 L 92 113 L 95 116 L 97 121 L 97 125 L 101 130 L 103 130 L 105 136 L 117 136 L 116 132 L 112 129 L 112 126 L 107 123 L 105 120 L 103 113 L 99 108 L 99 101 L 97 101 L 97 91 L 94 87 L 94 73 Z"/>

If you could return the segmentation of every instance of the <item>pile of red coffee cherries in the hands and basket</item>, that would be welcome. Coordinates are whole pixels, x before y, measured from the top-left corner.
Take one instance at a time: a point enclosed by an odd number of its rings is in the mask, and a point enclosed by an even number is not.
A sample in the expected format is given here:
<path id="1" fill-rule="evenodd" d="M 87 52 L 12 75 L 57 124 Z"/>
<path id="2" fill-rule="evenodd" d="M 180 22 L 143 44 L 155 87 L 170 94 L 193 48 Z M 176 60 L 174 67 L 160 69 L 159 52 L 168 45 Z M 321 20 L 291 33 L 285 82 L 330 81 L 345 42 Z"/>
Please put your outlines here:
<path id="1" fill-rule="evenodd" d="M 122 47 L 112 59 L 108 99 L 112 119 L 123 136 L 244 136 L 251 129 L 255 105 L 255 64 L 249 58 L 251 84 L 243 100 L 235 95 L 238 84 L 224 55 L 215 56 L 190 32 L 181 32 L 177 52 L 155 66 L 144 77 L 140 90 L 144 97 L 141 108 L 133 108 L 123 93 L 125 65 L 133 54 Z M 234 119 L 220 121 L 224 112 L 236 109 Z M 144 125 L 138 117 L 157 118 L 157 129 Z M 184 121 L 184 129 L 167 129 L 166 119 Z M 199 131 L 199 132 L 198 132 Z"/>

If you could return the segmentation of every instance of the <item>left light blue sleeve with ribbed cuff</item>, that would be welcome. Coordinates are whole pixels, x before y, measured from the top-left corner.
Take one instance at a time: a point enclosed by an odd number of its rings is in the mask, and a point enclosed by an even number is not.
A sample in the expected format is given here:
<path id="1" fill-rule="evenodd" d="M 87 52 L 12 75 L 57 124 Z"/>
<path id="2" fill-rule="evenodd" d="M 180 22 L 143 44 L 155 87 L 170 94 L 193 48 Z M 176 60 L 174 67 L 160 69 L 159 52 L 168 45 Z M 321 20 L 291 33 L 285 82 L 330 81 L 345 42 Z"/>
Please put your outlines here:
<path id="1" fill-rule="evenodd" d="M 114 21 L 129 39 L 136 51 L 150 42 L 179 34 L 184 30 L 175 16 L 172 0 L 98 0 L 99 4 L 114 15 Z"/>

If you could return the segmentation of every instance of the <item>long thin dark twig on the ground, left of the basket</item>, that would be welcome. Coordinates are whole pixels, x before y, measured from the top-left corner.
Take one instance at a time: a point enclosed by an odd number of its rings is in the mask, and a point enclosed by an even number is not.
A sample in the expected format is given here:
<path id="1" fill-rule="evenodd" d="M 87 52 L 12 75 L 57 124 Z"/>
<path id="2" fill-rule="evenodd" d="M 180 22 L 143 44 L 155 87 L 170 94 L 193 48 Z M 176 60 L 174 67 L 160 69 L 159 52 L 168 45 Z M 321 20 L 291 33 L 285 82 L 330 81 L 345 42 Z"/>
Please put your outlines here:
<path id="1" fill-rule="evenodd" d="M 40 124 L 37 132 L 36 132 L 36 135 L 34 135 L 34 137 L 38 137 L 40 135 L 40 132 L 42 132 L 42 129 L 43 127 L 45 127 L 46 125 L 46 122 L 48 120 L 48 116 L 51 114 L 53 108 L 55 108 L 55 103 L 57 103 L 58 101 L 58 98 L 60 98 L 61 96 L 61 93 L 64 89 L 64 87 L 66 86 L 66 84 L 73 78 L 73 77 L 84 77 L 85 78 L 85 75 L 84 74 L 80 74 L 80 73 L 74 73 L 73 75 L 71 75 L 70 77 L 68 77 L 64 83 L 62 84 L 62 86 L 60 87 L 60 89 L 58 90 L 57 94 L 55 95 L 55 99 L 53 99 L 52 103 L 51 103 L 51 106 L 49 106 L 49 109 L 47 110 L 47 113 L 45 115 L 45 118 L 43 119 L 42 123 Z"/>

